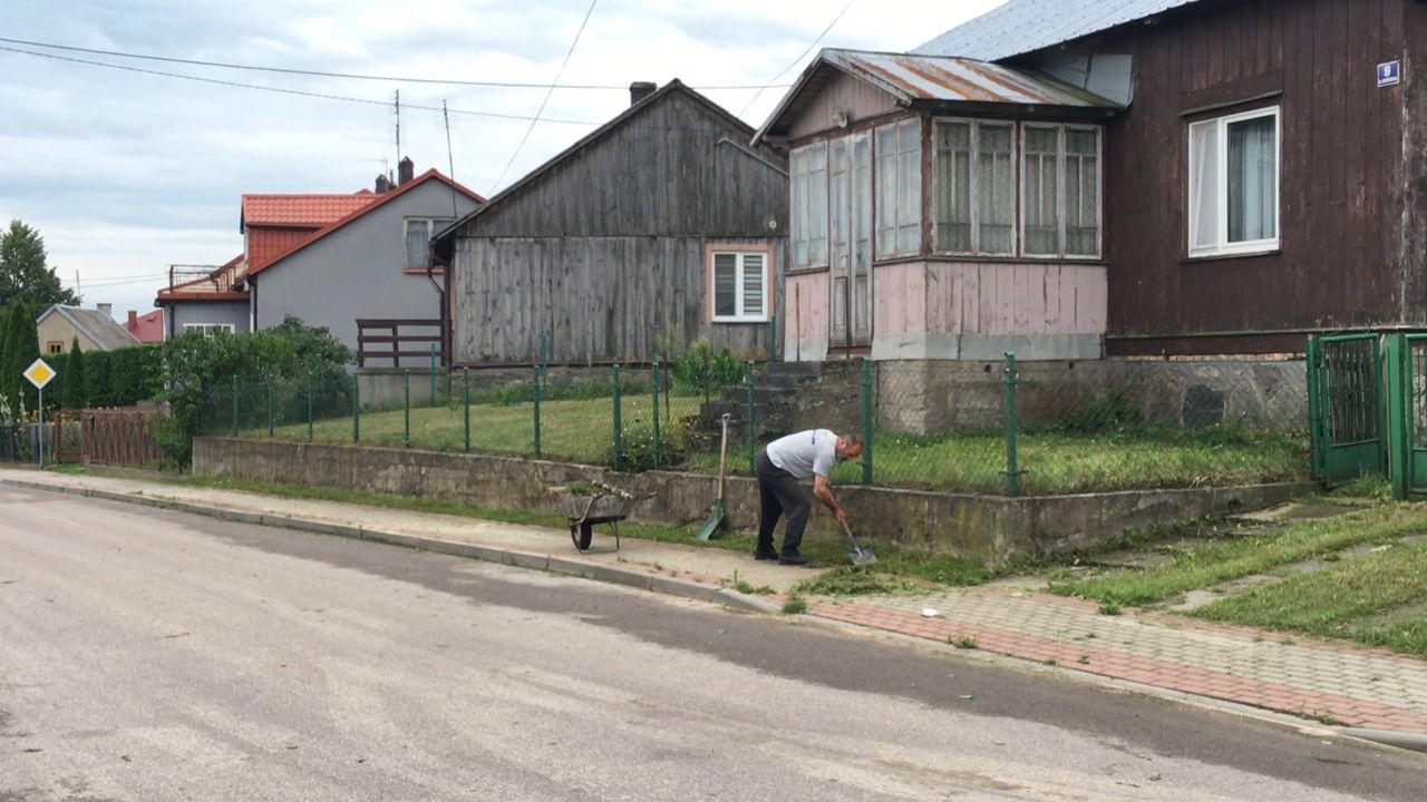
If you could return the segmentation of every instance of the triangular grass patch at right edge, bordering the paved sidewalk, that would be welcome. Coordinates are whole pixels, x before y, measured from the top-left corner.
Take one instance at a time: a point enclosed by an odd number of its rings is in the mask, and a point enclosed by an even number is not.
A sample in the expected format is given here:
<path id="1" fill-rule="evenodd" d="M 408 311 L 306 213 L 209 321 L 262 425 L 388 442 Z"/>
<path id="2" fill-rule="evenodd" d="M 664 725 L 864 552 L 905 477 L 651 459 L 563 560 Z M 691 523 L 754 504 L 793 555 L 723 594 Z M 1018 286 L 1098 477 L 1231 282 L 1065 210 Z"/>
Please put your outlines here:
<path id="1" fill-rule="evenodd" d="M 1216 601 L 1190 615 L 1347 638 L 1427 658 L 1427 542 L 1380 551 Z"/>

